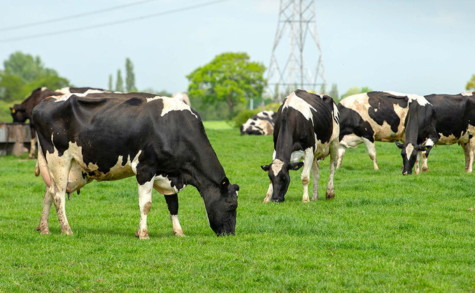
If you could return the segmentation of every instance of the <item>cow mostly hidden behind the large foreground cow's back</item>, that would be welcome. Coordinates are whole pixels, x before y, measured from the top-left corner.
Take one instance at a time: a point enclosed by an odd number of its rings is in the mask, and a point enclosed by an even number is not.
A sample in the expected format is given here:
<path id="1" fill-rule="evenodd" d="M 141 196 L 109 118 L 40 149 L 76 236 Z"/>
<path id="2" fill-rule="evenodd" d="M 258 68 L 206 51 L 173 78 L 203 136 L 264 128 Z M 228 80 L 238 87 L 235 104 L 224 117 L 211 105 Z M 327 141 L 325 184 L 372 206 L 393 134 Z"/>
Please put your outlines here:
<path id="1" fill-rule="evenodd" d="M 13 105 L 13 108 L 10 108 L 10 114 L 13 117 L 13 122 L 25 122 L 29 120 L 29 127 L 31 132 L 31 143 L 29 148 L 29 157 L 33 159 L 36 154 L 36 132 L 34 123 L 31 121 L 31 112 L 33 108 L 38 105 L 43 99 L 50 96 L 59 96 L 62 94 L 74 93 L 85 93 L 85 92 L 104 92 L 100 89 L 92 89 L 90 87 L 63 87 L 60 90 L 49 90 L 47 87 L 38 87 L 36 90 L 31 92 L 30 96 L 27 97 L 22 103 Z"/>

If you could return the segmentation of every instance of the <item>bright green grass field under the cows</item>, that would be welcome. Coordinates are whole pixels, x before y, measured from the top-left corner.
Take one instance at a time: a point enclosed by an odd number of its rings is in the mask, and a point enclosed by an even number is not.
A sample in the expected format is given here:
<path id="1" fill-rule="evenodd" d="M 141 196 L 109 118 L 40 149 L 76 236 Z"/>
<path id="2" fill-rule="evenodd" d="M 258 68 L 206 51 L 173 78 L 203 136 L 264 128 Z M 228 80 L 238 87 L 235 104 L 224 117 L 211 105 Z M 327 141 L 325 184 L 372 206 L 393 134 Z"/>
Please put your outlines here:
<path id="1" fill-rule="evenodd" d="M 272 138 L 205 125 L 241 186 L 236 236 L 216 237 L 186 187 L 178 215 L 187 237 L 173 237 L 155 192 L 150 240 L 139 241 L 134 178 L 87 185 L 66 203 L 74 235 L 60 234 L 52 208 L 52 234 L 41 236 L 35 162 L 0 157 L 0 292 L 475 291 L 475 174 L 464 172 L 458 145 L 434 148 L 430 173 L 418 176 L 402 176 L 393 143 L 376 145 L 380 171 L 360 145 L 336 172 L 334 200 L 325 201 L 325 159 L 320 201 L 302 203 L 297 171 L 285 203 L 263 204 Z"/>

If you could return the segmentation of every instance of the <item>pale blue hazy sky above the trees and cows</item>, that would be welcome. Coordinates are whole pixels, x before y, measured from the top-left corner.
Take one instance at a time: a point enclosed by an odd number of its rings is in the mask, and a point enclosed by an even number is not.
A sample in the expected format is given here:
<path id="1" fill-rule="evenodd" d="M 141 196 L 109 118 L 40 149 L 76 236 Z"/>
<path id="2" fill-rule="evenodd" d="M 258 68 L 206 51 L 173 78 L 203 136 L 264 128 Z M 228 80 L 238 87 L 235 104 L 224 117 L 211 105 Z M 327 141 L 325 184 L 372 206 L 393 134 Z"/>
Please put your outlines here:
<path id="1" fill-rule="evenodd" d="M 280 1 L 211 2 L 1 1 L 0 69 L 21 51 L 77 87 L 107 88 L 118 69 L 125 77 L 128 57 L 139 90 L 174 93 L 186 92 L 186 76 L 222 52 L 247 52 L 269 67 Z M 340 95 L 355 86 L 457 94 L 475 74 L 473 0 L 316 0 L 315 7 L 325 78 Z"/>

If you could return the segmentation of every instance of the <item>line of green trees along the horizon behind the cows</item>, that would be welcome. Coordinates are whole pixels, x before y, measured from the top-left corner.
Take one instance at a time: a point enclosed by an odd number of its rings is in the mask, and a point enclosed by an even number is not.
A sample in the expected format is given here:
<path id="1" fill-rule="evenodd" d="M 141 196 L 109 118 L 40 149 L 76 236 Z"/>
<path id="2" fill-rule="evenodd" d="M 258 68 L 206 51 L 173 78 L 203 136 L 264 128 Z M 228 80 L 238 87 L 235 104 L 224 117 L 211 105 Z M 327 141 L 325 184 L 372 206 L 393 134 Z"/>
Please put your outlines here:
<path id="1" fill-rule="evenodd" d="M 262 62 L 253 62 L 246 52 L 224 52 L 215 56 L 211 62 L 194 69 L 186 77 L 189 80 L 188 95 L 193 108 L 199 110 L 205 120 L 229 119 L 248 107 L 252 99 L 255 105 L 271 104 L 276 99 L 264 95 L 267 80 L 264 78 L 266 67 Z M 117 70 L 115 84 L 113 75 L 108 76 L 108 89 L 116 92 L 136 92 L 134 64 L 125 59 L 125 80 L 121 69 Z M 55 69 L 43 64 L 39 56 L 14 52 L 3 62 L 0 70 L 0 101 L 17 102 L 28 97 L 38 87 L 58 89 L 72 86 L 67 78 L 59 76 Z M 94 85 L 80 85 L 94 86 Z M 467 90 L 475 90 L 475 74 L 467 82 Z M 294 89 L 288 89 L 292 92 Z M 369 87 L 351 87 L 339 96 L 338 87 L 332 84 L 329 91 L 322 87 L 320 93 L 329 94 L 336 101 L 351 94 L 370 92 Z M 151 88 L 142 92 L 151 92 L 171 97 L 166 90 Z M 275 108 L 275 105 L 269 106 Z"/>

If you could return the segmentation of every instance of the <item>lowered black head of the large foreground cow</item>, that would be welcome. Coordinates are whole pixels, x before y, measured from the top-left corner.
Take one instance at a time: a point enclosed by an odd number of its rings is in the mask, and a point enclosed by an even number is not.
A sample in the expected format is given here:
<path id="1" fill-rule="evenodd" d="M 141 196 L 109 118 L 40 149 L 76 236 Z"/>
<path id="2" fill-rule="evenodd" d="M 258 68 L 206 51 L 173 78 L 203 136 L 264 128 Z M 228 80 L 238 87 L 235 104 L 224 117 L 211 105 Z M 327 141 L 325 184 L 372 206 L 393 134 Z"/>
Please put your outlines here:
<path id="1" fill-rule="evenodd" d="M 225 177 L 220 183 L 220 196 L 206 204 L 209 225 L 217 236 L 234 235 L 238 192 L 239 185 L 229 184 Z"/>

